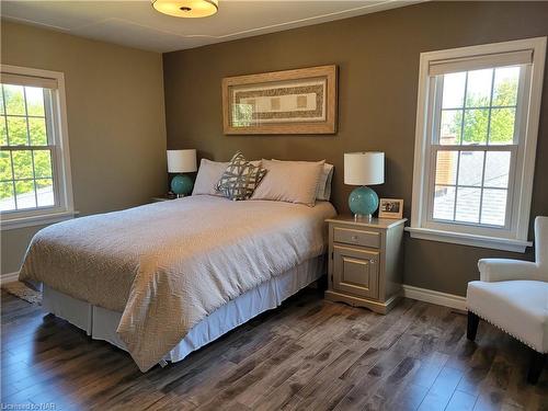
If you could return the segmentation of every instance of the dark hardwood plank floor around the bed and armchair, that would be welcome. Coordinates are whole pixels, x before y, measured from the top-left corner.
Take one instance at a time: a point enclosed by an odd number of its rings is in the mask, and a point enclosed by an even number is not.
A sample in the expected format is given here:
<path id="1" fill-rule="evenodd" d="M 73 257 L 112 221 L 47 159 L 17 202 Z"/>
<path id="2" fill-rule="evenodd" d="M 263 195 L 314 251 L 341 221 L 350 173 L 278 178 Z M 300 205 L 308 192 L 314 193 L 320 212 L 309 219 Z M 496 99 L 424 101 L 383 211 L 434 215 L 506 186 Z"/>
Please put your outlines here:
<path id="1" fill-rule="evenodd" d="M 548 410 L 548 370 L 528 386 L 521 343 L 484 322 L 470 343 L 466 316 L 425 302 L 379 316 L 307 289 L 141 374 L 125 352 L 1 297 L 2 409 Z"/>

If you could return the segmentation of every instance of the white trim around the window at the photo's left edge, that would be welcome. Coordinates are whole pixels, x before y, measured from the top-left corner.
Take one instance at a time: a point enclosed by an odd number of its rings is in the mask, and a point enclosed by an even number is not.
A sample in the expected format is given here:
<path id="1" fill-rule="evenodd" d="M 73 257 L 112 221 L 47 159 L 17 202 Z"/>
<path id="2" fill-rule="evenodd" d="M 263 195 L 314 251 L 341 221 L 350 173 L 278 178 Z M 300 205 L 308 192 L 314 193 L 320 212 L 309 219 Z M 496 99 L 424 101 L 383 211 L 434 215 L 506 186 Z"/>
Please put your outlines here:
<path id="1" fill-rule="evenodd" d="M 75 212 L 72 196 L 72 179 L 70 173 L 70 151 L 67 122 L 67 100 L 65 93 L 65 75 L 60 71 L 50 71 L 28 67 L 0 65 L 0 72 L 19 76 L 28 76 L 57 81 L 56 104 L 58 110 L 54 111 L 53 122 L 56 123 L 57 135 L 55 144 L 60 147 L 56 150 L 56 168 L 54 171 L 58 186 L 59 205 L 14 213 L 2 213 L 0 216 L 0 229 L 12 230 L 22 227 L 39 226 L 58 222 L 72 218 Z"/>

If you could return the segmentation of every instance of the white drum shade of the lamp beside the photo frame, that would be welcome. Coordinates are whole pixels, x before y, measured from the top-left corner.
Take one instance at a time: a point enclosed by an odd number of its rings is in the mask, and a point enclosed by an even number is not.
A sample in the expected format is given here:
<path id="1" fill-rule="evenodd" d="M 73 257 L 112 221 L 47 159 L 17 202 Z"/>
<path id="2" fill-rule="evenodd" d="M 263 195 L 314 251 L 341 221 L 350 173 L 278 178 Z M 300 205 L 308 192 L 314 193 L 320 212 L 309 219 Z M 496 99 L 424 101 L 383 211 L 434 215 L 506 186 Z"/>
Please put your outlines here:
<path id="1" fill-rule="evenodd" d="M 345 152 L 344 184 L 374 185 L 385 182 L 385 153 Z"/>

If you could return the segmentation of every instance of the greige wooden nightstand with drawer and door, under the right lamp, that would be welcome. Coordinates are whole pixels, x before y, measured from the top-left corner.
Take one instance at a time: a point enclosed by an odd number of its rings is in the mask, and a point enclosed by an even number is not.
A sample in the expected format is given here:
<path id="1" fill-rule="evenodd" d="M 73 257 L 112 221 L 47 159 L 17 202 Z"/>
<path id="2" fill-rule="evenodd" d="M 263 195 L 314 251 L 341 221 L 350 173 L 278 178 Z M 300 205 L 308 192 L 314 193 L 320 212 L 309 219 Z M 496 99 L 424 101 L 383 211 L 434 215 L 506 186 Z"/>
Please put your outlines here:
<path id="1" fill-rule="evenodd" d="M 401 295 L 407 219 L 338 216 L 326 221 L 330 256 L 326 298 L 387 313 Z"/>

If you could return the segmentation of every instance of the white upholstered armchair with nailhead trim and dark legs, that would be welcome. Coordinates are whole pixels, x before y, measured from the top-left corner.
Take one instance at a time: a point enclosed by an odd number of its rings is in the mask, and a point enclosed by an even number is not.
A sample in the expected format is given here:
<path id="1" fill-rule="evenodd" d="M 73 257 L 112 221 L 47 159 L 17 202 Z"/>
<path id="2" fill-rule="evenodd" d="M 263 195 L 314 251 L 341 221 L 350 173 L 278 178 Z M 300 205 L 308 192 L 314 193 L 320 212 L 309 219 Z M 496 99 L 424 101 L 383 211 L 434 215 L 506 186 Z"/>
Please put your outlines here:
<path id="1" fill-rule="evenodd" d="M 536 384 L 548 353 L 548 217 L 535 219 L 535 262 L 482 259 L 480 281 L 468 283 L 468 340 L 480 319 L 532 349 L 527 380 Z"/>

